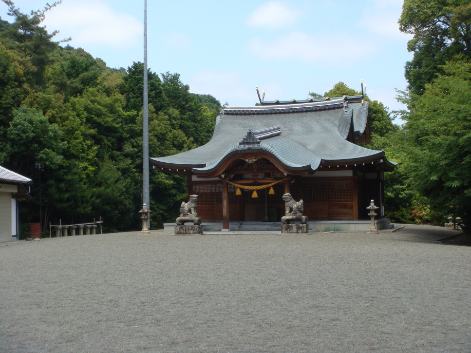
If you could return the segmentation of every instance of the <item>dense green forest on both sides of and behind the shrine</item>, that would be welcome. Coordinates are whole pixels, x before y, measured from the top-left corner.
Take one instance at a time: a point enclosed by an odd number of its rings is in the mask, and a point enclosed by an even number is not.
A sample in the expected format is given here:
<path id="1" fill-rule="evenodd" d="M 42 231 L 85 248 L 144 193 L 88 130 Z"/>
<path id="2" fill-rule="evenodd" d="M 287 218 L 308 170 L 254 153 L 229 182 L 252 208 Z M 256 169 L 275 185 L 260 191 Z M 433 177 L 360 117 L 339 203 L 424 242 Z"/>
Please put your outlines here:
<path id="1" fill-rule="evenodd" d="M 18 11 L 2 0 L 0 18 L 0 164 L 35 182 L 21 207 L 24 225 L 102 218 L 105 231 L 138 229 L 142 192 L 143 64 L 112 69 L 81 48 L 54 42 L 47 11 Z M 443 224 L 471 215 L 471 4 L 405 0 L 400 30 L 413 34 L 405 63 L 407 109 L 370 100 L 372 141 L 398 162 L 386 173 L 386 215 L 393 222 Z M 67 40 L 65 40 L 67 42 Z M 149 78 L 149 154 L 163 156 L 211 138 L 220 103 L 189 92 L 178 73 Z M 360 92 L 336 84 L 324 95 Z M 400 116 L 402 125 L 393 124 Z M 44 167 L 36 169 L 35 163 Z M 172 221 L 186 199 L 185 178 L 150 173 L 152 227 Z M 23 236 L 25 234 L 22 234 Z"/>

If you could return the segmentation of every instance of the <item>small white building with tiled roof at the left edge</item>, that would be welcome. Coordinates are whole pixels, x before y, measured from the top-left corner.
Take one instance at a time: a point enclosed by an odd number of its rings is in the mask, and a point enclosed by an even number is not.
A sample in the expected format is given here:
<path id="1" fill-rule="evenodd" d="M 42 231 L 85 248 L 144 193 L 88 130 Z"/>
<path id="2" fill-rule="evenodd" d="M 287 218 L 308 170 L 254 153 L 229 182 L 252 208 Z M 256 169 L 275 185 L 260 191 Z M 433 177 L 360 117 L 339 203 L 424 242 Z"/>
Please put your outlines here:
<path id="1" fill-rule="evenodd" d="M 18 201 L 28 200 L 33 181 L 0 166 L 0 243 L 18 238 Z"/>

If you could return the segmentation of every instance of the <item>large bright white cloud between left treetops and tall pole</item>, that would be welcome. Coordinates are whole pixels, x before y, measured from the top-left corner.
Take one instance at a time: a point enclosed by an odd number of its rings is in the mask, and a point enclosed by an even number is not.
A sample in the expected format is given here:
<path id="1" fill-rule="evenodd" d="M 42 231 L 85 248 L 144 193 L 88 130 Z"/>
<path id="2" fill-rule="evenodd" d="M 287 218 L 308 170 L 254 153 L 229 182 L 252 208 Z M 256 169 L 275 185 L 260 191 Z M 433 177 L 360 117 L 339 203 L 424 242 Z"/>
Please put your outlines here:
<path id="1" fill-rule="evenodd" d="M 70 45 L 74 47 L 99 45 L 122 49 L 143 41 L 141 21 L 100 1 L 64 2 L 48 13 L 45 24 L 49 31 L 60 30 L 58 39 L 72 37 Z"/>

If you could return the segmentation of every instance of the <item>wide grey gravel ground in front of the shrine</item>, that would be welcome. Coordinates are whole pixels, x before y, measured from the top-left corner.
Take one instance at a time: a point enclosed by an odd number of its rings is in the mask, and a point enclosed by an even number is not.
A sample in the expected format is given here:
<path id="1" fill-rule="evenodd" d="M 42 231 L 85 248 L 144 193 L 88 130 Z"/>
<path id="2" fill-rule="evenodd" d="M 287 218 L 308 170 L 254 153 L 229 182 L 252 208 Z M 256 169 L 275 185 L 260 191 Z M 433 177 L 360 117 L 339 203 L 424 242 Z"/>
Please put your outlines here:
<path id="1" fill-rule="evenodd" d="M 152 231 L 0 246 L 1 352 L 470 352 L 456 231 Z"/>

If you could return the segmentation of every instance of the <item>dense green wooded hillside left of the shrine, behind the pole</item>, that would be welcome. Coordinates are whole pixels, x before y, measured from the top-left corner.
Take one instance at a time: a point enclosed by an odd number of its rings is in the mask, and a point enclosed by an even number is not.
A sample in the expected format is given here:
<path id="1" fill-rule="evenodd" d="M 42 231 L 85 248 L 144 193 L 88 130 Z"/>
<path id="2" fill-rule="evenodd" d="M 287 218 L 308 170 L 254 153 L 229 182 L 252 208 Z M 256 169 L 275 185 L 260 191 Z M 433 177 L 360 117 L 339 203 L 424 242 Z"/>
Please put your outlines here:
<path id="1" fill-rule="evenodd" d="M 143 64 L 111 69 L 81 48 L 54 42 L 56 32 L 41 24 L 56 3 L 26 15 L 3 2 L 14 22 L 0 19 L 0 164 L 34 180 L 33 200 L 20 208 L 23 225 L 39 222 L 41 172 L 45 226 L 101 217 L 106 231 L 138 229 Z M 190 93 L 178 73 L 149 70 L 148 80 L 149 154 L 209 141 L 220 103 Z M 151 171 L 153 227 L 175 218 L 185 183 Z"/>

